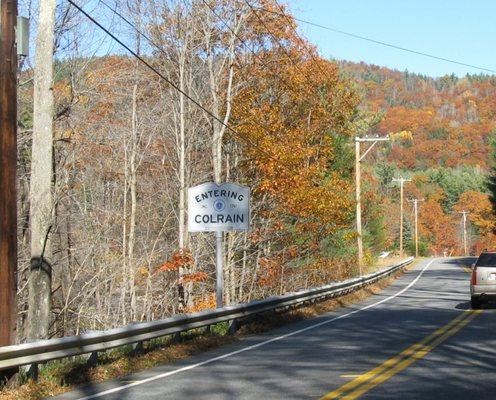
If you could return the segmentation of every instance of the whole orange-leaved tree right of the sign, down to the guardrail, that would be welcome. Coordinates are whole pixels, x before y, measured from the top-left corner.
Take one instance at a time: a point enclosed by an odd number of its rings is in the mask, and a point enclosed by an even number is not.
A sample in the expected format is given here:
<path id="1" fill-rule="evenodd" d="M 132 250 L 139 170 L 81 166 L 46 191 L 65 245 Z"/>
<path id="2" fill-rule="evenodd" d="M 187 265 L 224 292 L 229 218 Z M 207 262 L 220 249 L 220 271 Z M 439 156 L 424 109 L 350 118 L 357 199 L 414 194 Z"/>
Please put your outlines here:
<path id="1" fill-rule="evenodd" d="M 279 60 L 278 74 L 255 64 L 255 84 L 241 90 L 233 115 L 248 143 L 243 168 L 257 204 L 251 240 L 264 255 L 262 282 L 278 282 L 285 269 L 287 285 L 305 266 L 325 264 L 325 241 L 352 223 L 349 169 L 332 166 L 337 138 L 353 134 L 358 97 L 335 65 L 285 51 L 291 58 L 278 47 L 261 55 L 269 65 Z"/>

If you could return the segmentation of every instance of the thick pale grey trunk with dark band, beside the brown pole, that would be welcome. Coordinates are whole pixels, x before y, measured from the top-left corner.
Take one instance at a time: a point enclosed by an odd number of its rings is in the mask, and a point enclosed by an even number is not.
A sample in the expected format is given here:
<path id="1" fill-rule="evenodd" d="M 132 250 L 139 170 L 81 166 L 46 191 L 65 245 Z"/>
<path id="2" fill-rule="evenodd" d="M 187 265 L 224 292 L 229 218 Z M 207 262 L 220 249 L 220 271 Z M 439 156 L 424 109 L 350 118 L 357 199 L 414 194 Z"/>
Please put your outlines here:
<path id="1" fill-rule="evenodd" d="M 50 325 L 55 5 L 55 0 L 40 2 L 36 37 L 30 187 L 31 270 L 27 323 L 29 339 L 47 338 Z"/>

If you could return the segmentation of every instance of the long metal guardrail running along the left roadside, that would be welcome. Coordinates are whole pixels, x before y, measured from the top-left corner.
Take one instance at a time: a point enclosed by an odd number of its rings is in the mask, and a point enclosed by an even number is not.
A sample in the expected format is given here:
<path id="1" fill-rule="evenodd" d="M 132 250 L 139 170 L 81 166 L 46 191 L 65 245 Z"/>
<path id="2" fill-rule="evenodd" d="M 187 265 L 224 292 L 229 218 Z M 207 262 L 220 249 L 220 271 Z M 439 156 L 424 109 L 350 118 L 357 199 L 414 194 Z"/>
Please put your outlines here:
<path id="1" fill-rule="evenodd" d="M 255 314 L 283 309 L 315 300 L 342 296 L 374 283 L 405 267 L 412 261 L 413 257 L 410 257 L 399 264 L 360 278 L 302 290 L 284 296 L 270 297 L 265 300 L 253 301 L 246 304 L 201 311 L 193 314 L 177 315 L 158 321 L 130 324 L 120 328 L 86 333 L 79 336 L 0 347 L 0 371 L 70 356 L 97 353 L 123 345 L 143 343 L 150 339 L 173 335 L 194 328 L 208 327 L 219 322 L 235 321 Z"/>

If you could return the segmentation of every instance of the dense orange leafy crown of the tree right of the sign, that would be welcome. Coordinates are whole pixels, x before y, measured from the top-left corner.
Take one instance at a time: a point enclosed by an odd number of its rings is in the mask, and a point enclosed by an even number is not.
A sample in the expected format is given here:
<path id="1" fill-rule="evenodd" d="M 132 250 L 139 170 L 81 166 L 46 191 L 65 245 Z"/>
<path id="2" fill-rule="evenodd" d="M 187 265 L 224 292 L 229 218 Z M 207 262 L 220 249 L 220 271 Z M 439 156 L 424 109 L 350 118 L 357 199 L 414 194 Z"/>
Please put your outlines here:
<path id="1" fill-rule="evenodd" d="M 333 63 L 278 65 L 277 77 L 253 67 L 257 84 L 238 95 L 233 110 L 238 131 L 257 144 L 246 149 L 256 170 L 254 194 L 269 196 L 269 214 L 290 216 L 297 232 L 329 234 L 347 222 L 353 205 L 349 180 L 328 170 L 334 157 L 330 132 L 353 134 L 358 97 Z M 278 224 L 273 229 L 282 229 Z"/>

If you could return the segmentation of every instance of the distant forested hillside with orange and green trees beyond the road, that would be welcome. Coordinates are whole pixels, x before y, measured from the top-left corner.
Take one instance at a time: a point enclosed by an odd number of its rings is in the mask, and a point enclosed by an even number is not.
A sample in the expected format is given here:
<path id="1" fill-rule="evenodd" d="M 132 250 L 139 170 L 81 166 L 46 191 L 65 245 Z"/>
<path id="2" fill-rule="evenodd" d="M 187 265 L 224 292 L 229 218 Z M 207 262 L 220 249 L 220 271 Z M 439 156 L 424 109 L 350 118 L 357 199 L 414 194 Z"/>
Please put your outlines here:
<path id="1" fill-rule="evenodd" d="M 494 247 L 486 183 L 496 133 L 496 77 L 431 78 L 363 63 L 339 64 L 359 87 L 362 106 L 379 114 L 375 132 L 396 133 L 396 140 L 376 153 L 373 167 L 390 222 L 398 218 L 389 204 L 398 192 L 391 178 L 402 174 L 412 178 L 405 186 L 407 196 L 425 200 L 420 204 L 425 254 L 463 253 L 461 211 L 470 212 L 472 251 Z M 407 227 L 411 221 L 411 216 L 405 220 Z M 391 238 L 395 233 L 390 229 Z"/>

